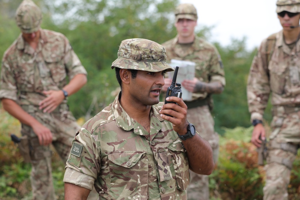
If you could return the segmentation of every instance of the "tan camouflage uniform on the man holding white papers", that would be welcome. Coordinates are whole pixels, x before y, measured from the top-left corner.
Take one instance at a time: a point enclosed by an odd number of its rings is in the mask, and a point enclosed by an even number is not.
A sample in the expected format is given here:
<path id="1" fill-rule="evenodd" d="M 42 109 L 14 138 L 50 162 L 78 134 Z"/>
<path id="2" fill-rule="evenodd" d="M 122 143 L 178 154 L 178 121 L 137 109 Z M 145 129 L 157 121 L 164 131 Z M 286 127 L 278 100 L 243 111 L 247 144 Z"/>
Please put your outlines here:
<path id="1" fill-rule="evenodd" d="M 191 13 L 187 12 L 186 13 Z M 176 16 L 190 19 L 190 15 Z M 193 19 L 194 20 L 194 19 Z M 167 51 L 167 61 L 171 59 L 192 61 L 196 63 L 195 77 L 202 82 L 220 82 L 225 86 L 223 64 L 217 49 L 202 38 L 195 37 L 192 44 L 178 43 L 178 36 L 162 44 Z M 201 137 L 209 142 L 217 163 L 219 153 L 219 136 L 214 131 L 214 119 L 211 116 L 212 98 L 208 93 L 193 93 L 192 101 L 187 102 L 187 119 L 194 124 Z M 189 200 L 209 199 L 208 176 L 190 171 L 190 185 L 187 189 Z"/>

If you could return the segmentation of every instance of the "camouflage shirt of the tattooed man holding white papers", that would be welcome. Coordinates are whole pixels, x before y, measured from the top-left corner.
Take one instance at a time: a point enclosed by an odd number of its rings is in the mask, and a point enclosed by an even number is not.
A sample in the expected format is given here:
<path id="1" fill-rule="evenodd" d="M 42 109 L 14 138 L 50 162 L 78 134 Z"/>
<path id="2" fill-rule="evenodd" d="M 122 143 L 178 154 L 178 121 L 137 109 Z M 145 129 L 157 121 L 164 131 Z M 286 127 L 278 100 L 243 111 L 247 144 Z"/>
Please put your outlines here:
<path id="1" fill-rule="evenodd" d="M 196 63 L 195 77 L 202 82 L 219 81 L 225 86 L 225 73 L 217 49 L 202 38 L 195 37 L 188 49 L 178 43 L 178 35 L 163 43 L 167 52 L 167 61 L 171 59 L 192 61 Z M 208 93 L 193 93 L 192 100 L 205 99 Z"/>

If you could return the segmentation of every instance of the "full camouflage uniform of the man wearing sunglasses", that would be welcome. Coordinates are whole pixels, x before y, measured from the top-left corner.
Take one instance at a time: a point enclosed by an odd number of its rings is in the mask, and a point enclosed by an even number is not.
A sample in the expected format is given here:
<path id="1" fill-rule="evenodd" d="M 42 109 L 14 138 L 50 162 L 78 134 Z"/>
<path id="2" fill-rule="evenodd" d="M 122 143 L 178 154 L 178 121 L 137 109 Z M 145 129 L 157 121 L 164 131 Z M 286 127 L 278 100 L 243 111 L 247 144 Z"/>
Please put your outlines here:
<path id="1" fill-rule="evenodd" d="M 291 10 L 295 3 L 297 10 Z M 300 1 L 277 1 L 277 13 L 283 10 L 300 12 Z M 251 121 L 262 120 L 270 93 L 273 106 L 264 200 L 288 199 L 287 186 L 300 143 L 299 63 L 300 41 L 290 49 L 280 31 L 262 41 L 251 65 L 247 84 Z"/>

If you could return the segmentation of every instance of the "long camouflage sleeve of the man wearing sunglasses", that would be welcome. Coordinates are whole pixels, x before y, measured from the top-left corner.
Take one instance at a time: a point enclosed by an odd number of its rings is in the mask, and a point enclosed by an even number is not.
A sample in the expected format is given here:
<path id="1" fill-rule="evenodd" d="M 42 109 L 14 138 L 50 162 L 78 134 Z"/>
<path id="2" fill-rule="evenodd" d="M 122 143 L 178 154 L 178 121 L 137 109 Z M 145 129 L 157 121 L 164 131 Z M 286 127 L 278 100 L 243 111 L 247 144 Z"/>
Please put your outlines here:
<path id="1" fill-rule="evenodd" d="M 263 40 L 253 58 L 247 81 L 248 109 L 253 119 L 262 120 L 270 94 L 267 64 L 267 39 Z"/>

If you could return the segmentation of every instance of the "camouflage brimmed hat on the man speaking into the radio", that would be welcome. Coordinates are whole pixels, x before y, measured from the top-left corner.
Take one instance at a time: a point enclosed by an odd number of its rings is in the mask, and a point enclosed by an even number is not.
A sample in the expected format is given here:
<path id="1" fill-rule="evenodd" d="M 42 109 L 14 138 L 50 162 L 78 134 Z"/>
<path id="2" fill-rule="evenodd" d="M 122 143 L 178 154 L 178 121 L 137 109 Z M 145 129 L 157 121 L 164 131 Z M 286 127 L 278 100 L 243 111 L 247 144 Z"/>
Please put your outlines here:
<path id="1" fill-rule="evenodd" d="M 121 42 L 118 58 L 113 61 L 111 68 L 149 72 L 173 71 L 173 67 L 166 63 L 166 58 L 165 48 L 156 42 L 140 38 L 127 39 Z"/>

